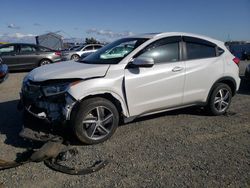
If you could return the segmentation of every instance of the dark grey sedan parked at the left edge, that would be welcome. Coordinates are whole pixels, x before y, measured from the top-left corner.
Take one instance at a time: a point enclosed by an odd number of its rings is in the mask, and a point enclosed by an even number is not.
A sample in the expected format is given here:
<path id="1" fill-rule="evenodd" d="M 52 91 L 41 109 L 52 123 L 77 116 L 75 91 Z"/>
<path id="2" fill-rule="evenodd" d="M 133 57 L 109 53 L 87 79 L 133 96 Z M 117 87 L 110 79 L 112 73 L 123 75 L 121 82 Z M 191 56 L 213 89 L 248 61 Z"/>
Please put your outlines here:
<path id="1" fill-rule="evenodd" d="M 12 43 L 0 46 L 0 56 L 9 70 L 33 69 L 61 61 L 61 52 L 35 44 Z"/>

